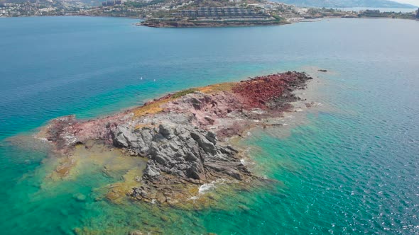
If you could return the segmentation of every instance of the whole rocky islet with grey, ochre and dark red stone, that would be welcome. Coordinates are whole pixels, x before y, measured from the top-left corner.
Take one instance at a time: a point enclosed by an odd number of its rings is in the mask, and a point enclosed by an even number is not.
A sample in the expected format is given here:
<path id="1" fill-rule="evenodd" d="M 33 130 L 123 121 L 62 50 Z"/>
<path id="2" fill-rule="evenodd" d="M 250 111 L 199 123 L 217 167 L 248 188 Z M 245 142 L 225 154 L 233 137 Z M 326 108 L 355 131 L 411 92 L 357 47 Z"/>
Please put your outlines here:
<path id="1" fill-rule="evenodd" d="M 272 125 L 271 120 L 300 99 L 293 91 L 304 89 L 310 79 L 288 71 L 192 88 L 109 117 L 60 117 L 43 133 L 60 154 L 72 154 L 77 144 L 96 140 L 148 159 L 138 185 L 126 195 L 173 205 L 192 197 L 205 183 L 254 180 L 240 161 L 240 149 L 229 139 L 251 127 Z"/>

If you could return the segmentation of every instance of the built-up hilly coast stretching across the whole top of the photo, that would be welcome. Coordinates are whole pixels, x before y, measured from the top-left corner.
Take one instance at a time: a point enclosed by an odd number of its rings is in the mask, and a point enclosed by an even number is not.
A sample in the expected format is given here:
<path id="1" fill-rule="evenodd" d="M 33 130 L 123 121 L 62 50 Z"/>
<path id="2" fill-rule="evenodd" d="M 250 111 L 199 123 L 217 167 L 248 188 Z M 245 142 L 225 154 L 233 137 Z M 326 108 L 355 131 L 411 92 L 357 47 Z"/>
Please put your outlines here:
<path id="1" fill-rule="evenodd" d="M 414 19 L 415 13 L 303 8 L 266 0 L 107 0 L 99 6 L 78 0 L 0 3 L 0 17 L 16 16 L 130 17 L 141 18 L 144 21 L 138 24 L 150 27 L 217 27 L 279 25 L 325 17 Z"/>

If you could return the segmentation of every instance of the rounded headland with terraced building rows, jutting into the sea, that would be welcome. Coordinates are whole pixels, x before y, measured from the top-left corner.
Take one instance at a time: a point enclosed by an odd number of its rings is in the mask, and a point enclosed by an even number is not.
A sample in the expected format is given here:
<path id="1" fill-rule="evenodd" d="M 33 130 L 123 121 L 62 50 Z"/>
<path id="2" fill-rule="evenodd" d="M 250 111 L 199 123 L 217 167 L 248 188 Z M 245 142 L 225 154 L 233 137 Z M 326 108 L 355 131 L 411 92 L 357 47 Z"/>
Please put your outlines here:
<path id="1" fill-rule="evenodd" d="M 151 27 L 214 27 L 276 25 L 298 18 L 299 9 L 262 0 L 189 1 L 169 11 L 152 13 L 141 25 Z"/>

